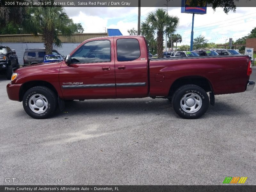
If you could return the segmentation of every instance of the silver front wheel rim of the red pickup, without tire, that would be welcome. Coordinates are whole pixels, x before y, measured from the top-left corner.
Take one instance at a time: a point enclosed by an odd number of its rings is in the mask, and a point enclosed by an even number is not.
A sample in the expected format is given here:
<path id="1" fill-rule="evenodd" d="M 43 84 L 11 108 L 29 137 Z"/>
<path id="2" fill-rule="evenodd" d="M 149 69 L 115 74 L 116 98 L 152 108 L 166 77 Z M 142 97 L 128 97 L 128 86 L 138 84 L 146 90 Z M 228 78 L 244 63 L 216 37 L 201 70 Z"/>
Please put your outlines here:
<path id="1" fill-rule="evenodd" d="M 44 113 L 48 108 L 48 101 L 44 95 L 35 94 L 28 100 L 29 108 L 35 113 Z"/>

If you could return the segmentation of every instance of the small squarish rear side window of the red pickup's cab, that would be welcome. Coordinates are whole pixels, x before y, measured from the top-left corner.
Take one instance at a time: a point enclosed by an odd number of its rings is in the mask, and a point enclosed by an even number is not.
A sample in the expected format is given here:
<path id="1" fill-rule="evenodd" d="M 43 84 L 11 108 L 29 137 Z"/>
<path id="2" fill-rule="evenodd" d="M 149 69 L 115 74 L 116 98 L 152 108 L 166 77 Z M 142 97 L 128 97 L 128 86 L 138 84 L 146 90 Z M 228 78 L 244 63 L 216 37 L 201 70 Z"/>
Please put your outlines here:
<path id="1" fill-rule="evenodd" d="M 117 60 L 132 61 L 140 57 L 140 45 L 137 39 L 117 39 Z"/>

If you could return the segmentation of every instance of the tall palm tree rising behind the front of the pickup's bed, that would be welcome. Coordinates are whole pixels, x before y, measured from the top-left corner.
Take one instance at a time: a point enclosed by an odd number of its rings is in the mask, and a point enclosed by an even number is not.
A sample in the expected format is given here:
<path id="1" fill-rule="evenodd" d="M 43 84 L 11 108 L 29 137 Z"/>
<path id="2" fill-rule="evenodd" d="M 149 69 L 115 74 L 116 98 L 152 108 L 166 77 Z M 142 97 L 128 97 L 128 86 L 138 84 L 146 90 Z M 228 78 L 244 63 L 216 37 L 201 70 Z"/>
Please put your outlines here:
<path id="1" fill-rule="evenodd" d="M 179 18 L 168 15 L 164 9 L 157 9 L 156 12 L 150 12 L 146 21 L 142 23 L 142 25 L 148 25 L 148 28 L 150 28 L 149 31 L 152 31 L 153 35 L 156 33 L 158 57 L 163 57 L 164 35 L 173 33 L 178 27 L 178 24 Z"/>

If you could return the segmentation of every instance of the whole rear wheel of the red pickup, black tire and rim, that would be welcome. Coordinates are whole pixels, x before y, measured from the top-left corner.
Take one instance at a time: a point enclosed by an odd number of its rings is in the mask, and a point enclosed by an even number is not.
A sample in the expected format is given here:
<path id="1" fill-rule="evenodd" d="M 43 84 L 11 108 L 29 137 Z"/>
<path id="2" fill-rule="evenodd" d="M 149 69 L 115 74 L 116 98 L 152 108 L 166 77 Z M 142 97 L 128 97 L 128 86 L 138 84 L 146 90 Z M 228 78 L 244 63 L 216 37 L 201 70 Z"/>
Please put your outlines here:
<path id="1" fill-rule="evenodd" d="M 197 119 L 209 107 L 209 97 L 201 87 L 193 84 L 183 85 L 172 97 L 174 111 L 185 119 Z"/>

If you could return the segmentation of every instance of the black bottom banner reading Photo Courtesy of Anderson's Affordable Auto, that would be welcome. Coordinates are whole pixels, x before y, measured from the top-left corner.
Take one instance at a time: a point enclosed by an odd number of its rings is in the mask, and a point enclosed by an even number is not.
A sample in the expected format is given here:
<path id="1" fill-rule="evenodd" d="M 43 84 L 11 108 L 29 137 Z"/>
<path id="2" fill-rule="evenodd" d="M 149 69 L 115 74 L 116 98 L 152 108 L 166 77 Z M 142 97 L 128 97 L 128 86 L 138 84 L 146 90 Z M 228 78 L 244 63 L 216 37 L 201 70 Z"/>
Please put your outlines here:
<path id="1" fill-rule="evenodd" d="M 256 185 L 6 185 L 1 192 L 255 192 Z"/>

